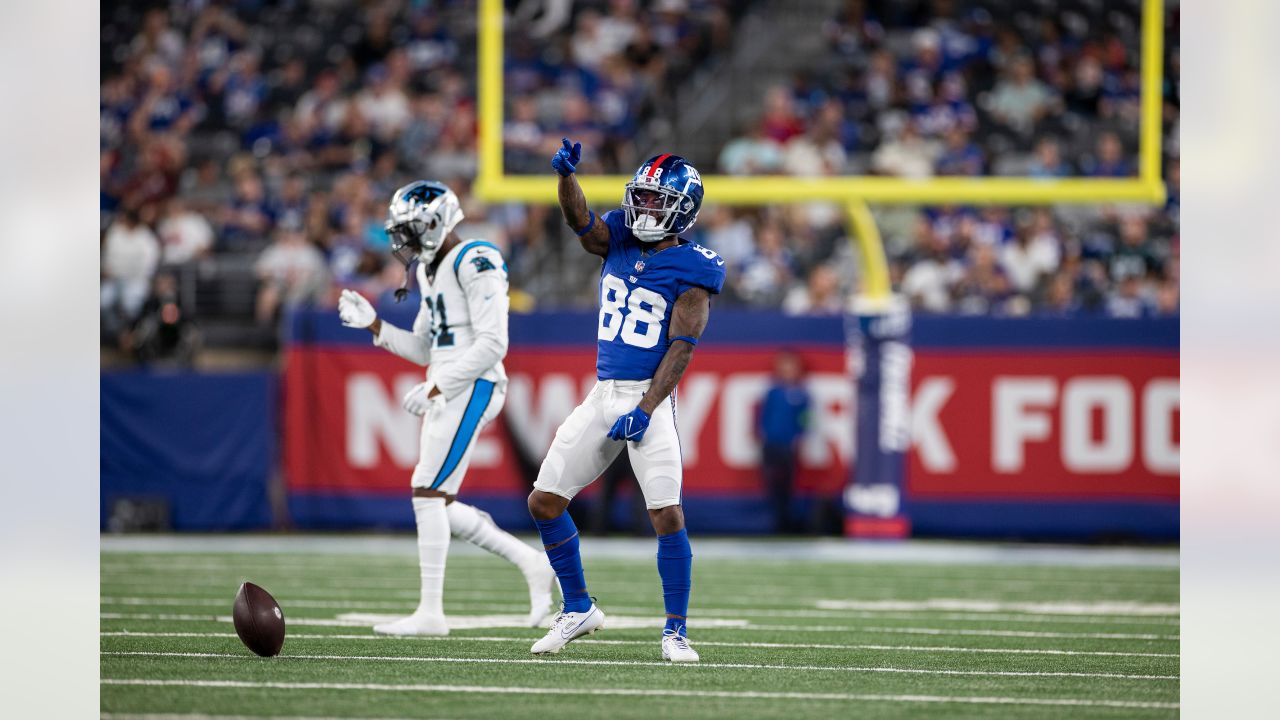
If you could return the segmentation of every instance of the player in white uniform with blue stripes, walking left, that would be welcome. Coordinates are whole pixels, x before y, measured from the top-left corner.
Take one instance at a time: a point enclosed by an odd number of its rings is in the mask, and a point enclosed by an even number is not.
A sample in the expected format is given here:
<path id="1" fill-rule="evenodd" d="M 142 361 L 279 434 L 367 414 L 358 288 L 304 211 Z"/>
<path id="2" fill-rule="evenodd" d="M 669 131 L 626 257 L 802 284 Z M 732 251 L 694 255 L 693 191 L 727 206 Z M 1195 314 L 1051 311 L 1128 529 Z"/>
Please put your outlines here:
<path id="1" fill-rule="evenodd" d="M 422 418 L 412 477 L 422 596 L 412 615 L 374 632 L 449 633 L 442 594 L 451 533 L 520 568 L 529 583 L 529 624 L 538 626 L 550 611 L 556 583 L 547 556 L 457 500 L 476 434 L 498 416 L 507 396 L 507 265 L 493 243 L 463 241 L 453 232 L 462 208 L 442 183 L 417 181 L 397 190 L 389 214 L 392 254 L 406 270 L 417 263 L 422 305 L 413 329 L 384 323 L 355 291 L 343 290 L 338 300 L 344 325 L 369 329 L 378 347 L 428 368 L 426 380 L 403 400 L 406 410 Z"/>

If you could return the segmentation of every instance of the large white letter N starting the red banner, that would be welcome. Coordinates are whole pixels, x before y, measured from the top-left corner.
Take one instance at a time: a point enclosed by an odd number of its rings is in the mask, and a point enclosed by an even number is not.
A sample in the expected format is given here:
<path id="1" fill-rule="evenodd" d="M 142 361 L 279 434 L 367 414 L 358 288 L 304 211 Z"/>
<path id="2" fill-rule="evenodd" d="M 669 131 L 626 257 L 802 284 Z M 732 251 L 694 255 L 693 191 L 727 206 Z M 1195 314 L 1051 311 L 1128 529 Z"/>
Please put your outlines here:
<path id="1" fill-rule="evenodd" d="M 401 407 L 401 398 L 420 382 L 421 375 L 397 375 L 396 389 L 388 393 L 372 373 L 347 378 L 347 461 L 352 468 L 378 465 L 379 445 L 387 446 L 397 465 L 417 462 L 420 421 Z"/>

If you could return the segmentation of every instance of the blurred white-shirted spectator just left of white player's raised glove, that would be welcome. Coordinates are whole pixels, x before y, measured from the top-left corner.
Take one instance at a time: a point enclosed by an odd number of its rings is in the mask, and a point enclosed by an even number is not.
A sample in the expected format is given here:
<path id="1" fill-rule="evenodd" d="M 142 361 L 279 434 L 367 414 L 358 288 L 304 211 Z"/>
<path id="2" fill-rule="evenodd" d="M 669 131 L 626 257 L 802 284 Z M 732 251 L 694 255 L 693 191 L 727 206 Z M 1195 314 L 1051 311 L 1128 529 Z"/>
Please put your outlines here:
<path id="1" fill-rule="evenodd" d="M 301 231 L 278 229 L 275 241 L 262 251 L 253 269 L 261 281 L 255 313 L 259 324 L 269 325 L 282 307 L 312 305 L 328 295 L 324 255 Z"/>

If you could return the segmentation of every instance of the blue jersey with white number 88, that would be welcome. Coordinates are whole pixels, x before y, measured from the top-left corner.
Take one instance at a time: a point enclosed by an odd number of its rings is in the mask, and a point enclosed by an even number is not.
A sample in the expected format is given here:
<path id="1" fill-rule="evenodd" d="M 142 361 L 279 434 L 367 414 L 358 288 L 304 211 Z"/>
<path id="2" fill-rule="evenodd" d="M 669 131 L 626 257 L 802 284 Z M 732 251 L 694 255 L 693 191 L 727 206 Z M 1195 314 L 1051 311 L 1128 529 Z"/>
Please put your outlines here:
<path id="1" fill-rule="evenodd" d="M 692 287 L 718 293 L 724 260 L 681 240 L 660 252 L 631 234 L 621 210 L 605 213 L 609 252 L 600 268 L 600 323 L 595 374 L 602 380 L 648 380 L 667 354 L 671 310 Z"/>

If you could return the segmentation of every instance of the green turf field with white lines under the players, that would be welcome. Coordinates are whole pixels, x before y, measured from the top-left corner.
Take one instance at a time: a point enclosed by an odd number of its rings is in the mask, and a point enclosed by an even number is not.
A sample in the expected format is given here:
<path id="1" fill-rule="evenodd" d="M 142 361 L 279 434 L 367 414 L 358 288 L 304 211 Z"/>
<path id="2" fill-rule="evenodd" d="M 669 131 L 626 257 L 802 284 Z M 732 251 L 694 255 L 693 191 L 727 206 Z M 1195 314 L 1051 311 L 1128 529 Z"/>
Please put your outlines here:
<path id="1" fill-rule="evenodd" d="M 774 542 L 754 560 L 759 543 L 700 551 L 695 538 L 690 639 L 703 661 L 671 666 L 658 647 L 652 541 L 598 543 L 593 556 L 596 541 L 584 538 L 609 620 L 596 639 L 535 659 L 541 632 L 515 623 L 527 610 L 520 574 L 457 542 L 445 580 L 454 630 L 428 639 L 378 637 L 361 618 L 416 605 L 411 539 L 376 541 L 393 543 L 388 552 L 360 538 L 347 550 L 293 537 L 268 552 L 251 539 L 180 539 L 104 538 L 104 717 L 1178 715 L 1171 551 L 1135 564 L 1080 562 L 1073 551 L 1029 555 L 1034 564 L 1016 553 L 886 561 Z M 285 612 L 279 657 L 236 638 L 230 605 L 246 579 Z"/>

